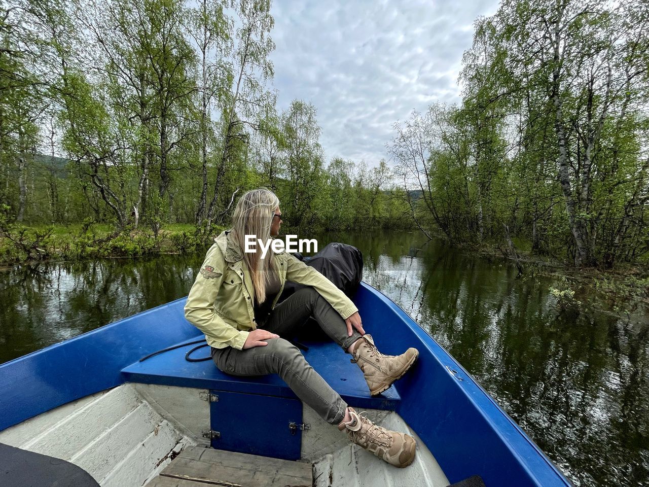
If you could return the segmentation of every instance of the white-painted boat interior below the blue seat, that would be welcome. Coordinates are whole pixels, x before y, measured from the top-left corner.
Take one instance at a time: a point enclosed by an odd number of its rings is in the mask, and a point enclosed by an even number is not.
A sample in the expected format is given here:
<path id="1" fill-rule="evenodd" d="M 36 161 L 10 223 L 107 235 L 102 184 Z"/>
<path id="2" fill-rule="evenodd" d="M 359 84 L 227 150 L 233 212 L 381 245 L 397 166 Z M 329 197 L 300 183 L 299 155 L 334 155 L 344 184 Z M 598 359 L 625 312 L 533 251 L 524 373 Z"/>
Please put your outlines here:
<path id="1" fill-rule="evenodd" d="M 291 485 L 448 486 L 424 442 L 389 410 L 367 410 L 367 415 L 380 426 L 415 437 L 417 457 L 408 468 L 395 468 L 350 445 L 343 432 L 306 405 L 302 421 L 308 429 L 299 432 L 297 462 L 210 449 L 204 437 L 210 431 L 210 403 L 205 400 L 209 393 L 127 382 L 9 427 L 0 432 L 0 443 L 67 460 L 102 487 L 283 486 L 294 470 L 297 483 Z M 269 420 L 263 410 L 251 410 L 249 417 L 241 429 L 263 428 Z M 205 468 L 206 463 L 214 468 Z M 289 469 L 291 464 L 300 468 Z M 304 474 L 309 468 L 311 477 Z M 269 475 L 269 470 L 277 475 Z"/>

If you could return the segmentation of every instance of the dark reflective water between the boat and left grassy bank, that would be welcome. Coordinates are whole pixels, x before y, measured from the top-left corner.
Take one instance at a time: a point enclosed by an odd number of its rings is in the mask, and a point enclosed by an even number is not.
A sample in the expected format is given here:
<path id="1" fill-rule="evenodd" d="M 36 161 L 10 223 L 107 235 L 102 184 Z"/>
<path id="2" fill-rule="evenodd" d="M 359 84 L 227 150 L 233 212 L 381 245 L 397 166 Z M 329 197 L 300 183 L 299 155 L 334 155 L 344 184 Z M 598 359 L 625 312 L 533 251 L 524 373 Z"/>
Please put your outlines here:
<path id="1" fill-rule="evenodd" d="M 201 262 L 162 256 L 0 272 L 0 363 L 187 295 Z"/>

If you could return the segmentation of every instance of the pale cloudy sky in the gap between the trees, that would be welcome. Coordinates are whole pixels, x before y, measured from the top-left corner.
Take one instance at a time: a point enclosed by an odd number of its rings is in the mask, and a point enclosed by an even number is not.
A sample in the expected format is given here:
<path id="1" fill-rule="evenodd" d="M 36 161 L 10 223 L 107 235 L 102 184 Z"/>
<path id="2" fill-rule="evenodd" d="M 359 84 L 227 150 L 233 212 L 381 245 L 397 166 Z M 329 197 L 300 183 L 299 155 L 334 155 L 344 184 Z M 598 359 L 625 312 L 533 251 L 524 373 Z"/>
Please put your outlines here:
<path id="1" fill-rule="evenodd" d="M 387 159 L 395 121 L 459 101 L 473 21 L 497 0 L 275 0 L 278 108 L 315 105 L 326 160 Z"/>

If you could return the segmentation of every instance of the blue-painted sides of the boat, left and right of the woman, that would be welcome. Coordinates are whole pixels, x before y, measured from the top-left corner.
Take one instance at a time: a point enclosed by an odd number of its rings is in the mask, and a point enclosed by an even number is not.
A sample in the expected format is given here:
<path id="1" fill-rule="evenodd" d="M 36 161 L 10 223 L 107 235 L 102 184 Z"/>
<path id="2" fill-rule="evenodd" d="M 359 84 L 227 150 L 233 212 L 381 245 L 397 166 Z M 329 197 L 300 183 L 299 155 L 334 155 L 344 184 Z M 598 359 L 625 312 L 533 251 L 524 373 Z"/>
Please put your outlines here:
<path id="1" fill-rule="evenodd" d="M 198 331 L 184 318 L 184 302 L 185 298 L 178 299 L 1 365 L 0 431 L 119 386 L 129 380 L 129 370 L 142 356 L 195 338 Z M 419 349 L 418 364 L 395 384 L 396 392 L 388 393 L 384 402 L 417 432 L 451 483 L 480 475 L 487 487 L 570 485 L 493 398 L 408 314 L 365 283 L 354 302 L 366 331 L 384 353 L 401 353 L 411 346 Z M 268 384 L 269 390 L 276 386 L 273 381 Z"/>

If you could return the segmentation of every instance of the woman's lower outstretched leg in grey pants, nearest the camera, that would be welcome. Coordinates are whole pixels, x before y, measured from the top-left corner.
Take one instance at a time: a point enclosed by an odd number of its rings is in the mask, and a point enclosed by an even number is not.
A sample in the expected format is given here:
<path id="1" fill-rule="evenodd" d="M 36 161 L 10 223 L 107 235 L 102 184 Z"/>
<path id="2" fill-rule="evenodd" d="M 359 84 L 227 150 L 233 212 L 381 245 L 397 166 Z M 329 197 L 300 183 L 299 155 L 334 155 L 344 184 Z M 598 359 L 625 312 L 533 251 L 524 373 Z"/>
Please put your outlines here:
<path id="1" fill-rule="evenodd" d="M 266 341 L 268 345 L 245 350 L 214 349 L 212 358 L 219 370 L 231 375 L 278 374 L 321 418 L 332 425 L 341 423 L 347 403 L 306 362 L 300 349 L 284 338 Z"/>

